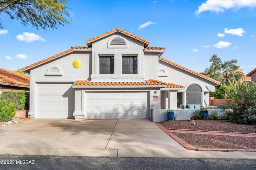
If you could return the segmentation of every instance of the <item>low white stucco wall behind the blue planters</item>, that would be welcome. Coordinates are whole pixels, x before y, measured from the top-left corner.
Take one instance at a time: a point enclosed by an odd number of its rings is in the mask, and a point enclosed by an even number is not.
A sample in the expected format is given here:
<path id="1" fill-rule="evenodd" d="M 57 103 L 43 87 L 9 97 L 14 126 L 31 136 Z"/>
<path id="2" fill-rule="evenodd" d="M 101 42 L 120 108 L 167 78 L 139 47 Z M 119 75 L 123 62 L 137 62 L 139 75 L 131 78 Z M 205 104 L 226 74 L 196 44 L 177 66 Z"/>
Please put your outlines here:
<path id="1" fill-rule="evenodd" d="M 167 111 L 170 111 L 170 109 L 154 109 L 152 113 L 152 121 L 153 122 L 162 122 L 167 121 Z M 194 109 L 172 109 L 174 111 L 174 115 L 177 115 L 177 120 L 187 120 L 187 118 L 191 118 L 194 116 Z M 212 114 L 212 112 L 215 111 L 215 109 L 208 110 L 208 114 Z M 217 109 L 218 111 L 218 117 L 222 116 L 223 113 L 221 112 L 221 109 Z M 220 118 L 219 118 L 220 119 Z"/>

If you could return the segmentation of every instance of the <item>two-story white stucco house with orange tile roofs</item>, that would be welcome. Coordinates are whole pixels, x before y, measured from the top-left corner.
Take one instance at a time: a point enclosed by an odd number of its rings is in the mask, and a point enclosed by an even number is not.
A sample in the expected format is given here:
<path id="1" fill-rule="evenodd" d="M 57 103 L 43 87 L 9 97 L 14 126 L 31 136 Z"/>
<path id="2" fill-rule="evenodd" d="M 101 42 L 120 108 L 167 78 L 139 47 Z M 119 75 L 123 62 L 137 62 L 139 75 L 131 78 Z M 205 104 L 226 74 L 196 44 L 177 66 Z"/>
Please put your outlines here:
<path id="1" fill-rule="evenodd" d="M 221 84 L 119 28 L 86 44 L 22 68 L 30 73 L 30 117 L 149 119 L 153 106 L 208 106 L 209 92 Z"/>

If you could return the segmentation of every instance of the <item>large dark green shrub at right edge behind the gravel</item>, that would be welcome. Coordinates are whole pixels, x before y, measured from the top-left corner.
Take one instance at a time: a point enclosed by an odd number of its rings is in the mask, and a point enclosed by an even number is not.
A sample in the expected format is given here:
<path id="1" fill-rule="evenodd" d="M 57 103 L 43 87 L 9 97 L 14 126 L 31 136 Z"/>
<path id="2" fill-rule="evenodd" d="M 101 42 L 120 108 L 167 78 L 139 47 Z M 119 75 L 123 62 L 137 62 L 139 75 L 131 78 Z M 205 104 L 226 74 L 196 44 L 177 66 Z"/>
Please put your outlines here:
<path id="1" fill-rule="evenodd" d="M 233 102 L 224 105 L 222 119 L 256 125 L 256 85 L 233 82 L 232 86 Z"/>

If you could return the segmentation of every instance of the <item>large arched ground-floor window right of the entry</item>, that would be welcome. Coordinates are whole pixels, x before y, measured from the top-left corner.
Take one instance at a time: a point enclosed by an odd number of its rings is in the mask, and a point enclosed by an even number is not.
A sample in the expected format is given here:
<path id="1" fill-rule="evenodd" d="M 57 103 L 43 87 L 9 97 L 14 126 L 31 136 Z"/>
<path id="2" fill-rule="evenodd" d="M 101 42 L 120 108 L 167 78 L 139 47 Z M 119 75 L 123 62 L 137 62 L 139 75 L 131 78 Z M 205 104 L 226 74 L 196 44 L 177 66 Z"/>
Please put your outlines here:
<path id="1" fill-rule="evenodd" d="M 199 85 L 192 84 L 188 86 L 186 93 L 186 103 L 202 105 L 202 90 Z"/>

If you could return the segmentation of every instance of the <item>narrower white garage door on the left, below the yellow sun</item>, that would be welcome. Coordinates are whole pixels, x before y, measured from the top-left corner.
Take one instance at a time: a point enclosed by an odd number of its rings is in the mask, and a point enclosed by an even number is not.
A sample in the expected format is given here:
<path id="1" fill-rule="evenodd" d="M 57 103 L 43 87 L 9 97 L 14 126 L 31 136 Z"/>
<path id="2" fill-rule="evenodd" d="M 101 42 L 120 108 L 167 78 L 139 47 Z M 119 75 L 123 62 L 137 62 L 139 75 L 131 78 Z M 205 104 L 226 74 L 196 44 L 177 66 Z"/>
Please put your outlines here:
<path id="1" fill-rule="evenodd" d="M 38 118 L 68 118 L 71 84 L 38 83 Z"/>

